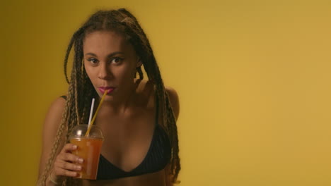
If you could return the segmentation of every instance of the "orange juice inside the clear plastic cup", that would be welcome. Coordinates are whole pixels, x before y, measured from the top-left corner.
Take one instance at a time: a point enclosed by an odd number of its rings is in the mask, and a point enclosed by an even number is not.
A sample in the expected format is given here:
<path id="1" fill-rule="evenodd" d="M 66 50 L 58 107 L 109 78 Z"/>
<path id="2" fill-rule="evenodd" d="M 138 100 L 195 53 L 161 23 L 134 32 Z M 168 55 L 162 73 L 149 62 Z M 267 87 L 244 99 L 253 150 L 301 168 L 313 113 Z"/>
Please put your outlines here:
<path id="1" fill-rule="evenodd" d="M 77 149 L 72 151 L 72 154 L 75 154 L 84 160 L 81 164 L 81 171 L 77 172 L 79 173 L 79 176 L 76 178 L 95 180 L 103 139 L 82 136 L 71 138 L 70 143 L 77 145 Z"/>

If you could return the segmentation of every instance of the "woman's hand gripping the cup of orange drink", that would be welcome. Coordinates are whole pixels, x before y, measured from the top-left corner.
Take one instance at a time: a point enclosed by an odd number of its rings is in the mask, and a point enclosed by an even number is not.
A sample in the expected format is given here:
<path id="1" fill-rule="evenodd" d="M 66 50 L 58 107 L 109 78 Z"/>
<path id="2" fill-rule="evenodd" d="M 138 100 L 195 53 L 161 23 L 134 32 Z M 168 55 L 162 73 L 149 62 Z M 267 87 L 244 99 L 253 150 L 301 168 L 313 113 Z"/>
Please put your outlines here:
<path id="1" fill-rule="evenodd" d="M 76 177 L 79 175 L 76 171 L 81 171 L 81 163 L 83 159 L 79 156 L 71 154 L 71 151 L 77 149 L 75 144 L 65 144 L 57 158 L 54 161 L 50 181 L 53 183 L 59 182 L 64 176 Z"/>

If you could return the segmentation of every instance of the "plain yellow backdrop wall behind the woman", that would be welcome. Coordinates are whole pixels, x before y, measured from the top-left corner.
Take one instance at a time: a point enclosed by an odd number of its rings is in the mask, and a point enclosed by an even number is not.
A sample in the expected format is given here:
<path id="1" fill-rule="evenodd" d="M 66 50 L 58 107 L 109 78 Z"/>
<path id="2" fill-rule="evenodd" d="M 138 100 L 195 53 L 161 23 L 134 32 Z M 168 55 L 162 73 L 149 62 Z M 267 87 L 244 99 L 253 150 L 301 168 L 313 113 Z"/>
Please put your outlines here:
<path id="1" fill-rule="evenodd" d="M 2 2 L 0 185 L 35 185 L 69 39 L 120 7 L 180 95 L 182 186 L 331 185 L 331 1 L 300 0 Z"/>

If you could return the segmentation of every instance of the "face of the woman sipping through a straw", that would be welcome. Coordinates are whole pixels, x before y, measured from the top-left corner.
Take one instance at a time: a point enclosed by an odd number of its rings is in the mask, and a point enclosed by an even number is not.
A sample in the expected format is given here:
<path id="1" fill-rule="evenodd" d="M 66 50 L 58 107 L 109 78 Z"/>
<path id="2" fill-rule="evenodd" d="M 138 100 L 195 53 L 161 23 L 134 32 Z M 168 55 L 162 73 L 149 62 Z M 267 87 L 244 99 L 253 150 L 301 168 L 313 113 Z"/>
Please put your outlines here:
<path id="1" fill-rule="evenodd" d="M 86 73 L 100 97 L 105 90 L 105 101 L 120 101 L 131 94 L 134 74 L 141 63 L 122 35 L 110 31 L 89 33 L 83 41 L 83 55 Z"/>

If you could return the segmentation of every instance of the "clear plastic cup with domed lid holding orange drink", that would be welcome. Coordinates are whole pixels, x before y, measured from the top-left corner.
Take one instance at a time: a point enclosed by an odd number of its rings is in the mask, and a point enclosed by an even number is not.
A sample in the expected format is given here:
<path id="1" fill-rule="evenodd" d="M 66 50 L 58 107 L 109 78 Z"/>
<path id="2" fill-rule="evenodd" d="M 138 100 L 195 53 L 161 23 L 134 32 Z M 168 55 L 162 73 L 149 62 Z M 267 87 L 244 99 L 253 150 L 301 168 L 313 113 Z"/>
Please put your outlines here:
<path id="1" fill-rule="evenodd" d="M 98 172 L 98 164 L 101 146 L 103 144 L 103 133 L 96 125 L 91 126 L 88 137 L 85 137 L 88 125 L 77 125 L 69 137 L 71 144 L 76 144 L 77 149 L 72 151 L 83 159 L 81 171 L 76 178 L 95 180 Z"/>

